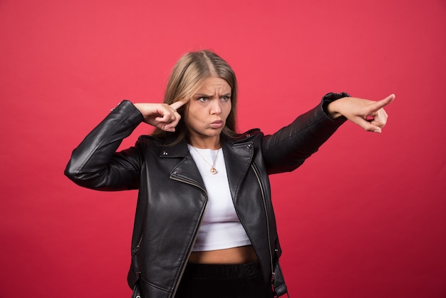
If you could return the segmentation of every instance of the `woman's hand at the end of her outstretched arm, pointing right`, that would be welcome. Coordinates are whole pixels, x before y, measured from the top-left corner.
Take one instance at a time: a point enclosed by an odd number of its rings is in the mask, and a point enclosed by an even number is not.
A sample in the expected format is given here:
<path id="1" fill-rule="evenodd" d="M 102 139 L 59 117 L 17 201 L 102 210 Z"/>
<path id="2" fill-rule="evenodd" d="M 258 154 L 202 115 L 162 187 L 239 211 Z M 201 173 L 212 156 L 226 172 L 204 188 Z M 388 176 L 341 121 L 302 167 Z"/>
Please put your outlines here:
<path id="1" fill-rule="evenodd" d="M 343 115 L 351 122 L 356 123 L 367 131 L 381 133 L 388 115 L 384 111 L 387 106 L 395 99 L 395 94 L 380 100 L 369 101 L 368 99 L 344 97 L 328 104 L 328 113 L 332 118 L 338 118 Z"/>

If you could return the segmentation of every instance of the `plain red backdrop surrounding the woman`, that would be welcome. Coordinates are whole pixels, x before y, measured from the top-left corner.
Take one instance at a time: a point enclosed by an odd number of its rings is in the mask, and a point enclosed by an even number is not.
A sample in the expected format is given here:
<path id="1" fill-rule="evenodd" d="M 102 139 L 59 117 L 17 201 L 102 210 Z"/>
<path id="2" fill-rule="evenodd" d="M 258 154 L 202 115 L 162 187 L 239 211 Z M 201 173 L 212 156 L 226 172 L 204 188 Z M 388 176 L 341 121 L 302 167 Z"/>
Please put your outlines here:
<path id="1" fill-rule="evenodd" d="M 445 36 L 444 0 L 1 0 L 0 297 L 130 297 L 136 192 L 63 169 L 199 48 L 237 73 L 239 130 L 273 133 L 329 91 L 397 96 L 382 135 L 346 123 L 271 177 L 291 297 L 446 297 Z"/>

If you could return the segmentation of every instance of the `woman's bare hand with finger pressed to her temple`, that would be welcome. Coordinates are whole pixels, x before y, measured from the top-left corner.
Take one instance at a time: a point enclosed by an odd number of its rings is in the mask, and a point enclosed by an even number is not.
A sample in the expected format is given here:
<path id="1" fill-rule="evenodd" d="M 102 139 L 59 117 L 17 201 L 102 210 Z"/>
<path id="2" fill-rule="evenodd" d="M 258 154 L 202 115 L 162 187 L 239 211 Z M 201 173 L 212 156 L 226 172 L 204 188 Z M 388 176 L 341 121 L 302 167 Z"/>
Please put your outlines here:
<path id="1" fill-rule="evenodd" d="M 145 123 L 160 130 L 174 132 L 175 126 L 181 118 L 177 109 L 185 103 L 187 103 L 187 100 L 176 101 L 171 105 L 166 103 L 134 103 L 134 106 L 142 113 Z"/>

